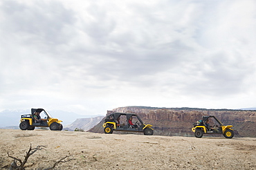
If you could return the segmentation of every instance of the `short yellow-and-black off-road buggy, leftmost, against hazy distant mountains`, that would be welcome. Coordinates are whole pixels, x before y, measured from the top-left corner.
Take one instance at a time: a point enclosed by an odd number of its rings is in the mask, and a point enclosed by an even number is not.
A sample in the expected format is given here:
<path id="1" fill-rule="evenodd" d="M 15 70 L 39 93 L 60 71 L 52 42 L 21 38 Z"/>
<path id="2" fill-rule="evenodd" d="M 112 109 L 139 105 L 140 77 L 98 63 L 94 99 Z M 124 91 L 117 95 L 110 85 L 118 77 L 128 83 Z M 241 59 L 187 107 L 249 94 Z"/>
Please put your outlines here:
<path id="1" fill-rule="evenodd" d="M 44 121 L 37 122 L 34 118 L 35 113 L 44 113 Z M 53 118 L 50 113 L 43 108 L 31 108 L 31 114 L 21 115 L 19 128 L 21 130 L 34 130 L 35 127 L 50 127 L 52 131 L 62 131 L 62 120 Z"/>

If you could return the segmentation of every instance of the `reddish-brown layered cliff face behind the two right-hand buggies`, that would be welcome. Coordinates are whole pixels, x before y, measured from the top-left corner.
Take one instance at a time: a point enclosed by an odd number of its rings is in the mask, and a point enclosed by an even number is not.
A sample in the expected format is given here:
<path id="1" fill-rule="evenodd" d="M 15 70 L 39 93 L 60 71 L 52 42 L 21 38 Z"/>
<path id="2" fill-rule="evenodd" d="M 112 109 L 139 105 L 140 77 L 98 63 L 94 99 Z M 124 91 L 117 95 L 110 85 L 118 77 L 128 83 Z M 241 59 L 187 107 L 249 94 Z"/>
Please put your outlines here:
<path id="1" fill-rule="evenodd" d="M 154 135 L 193 136 L 192 124 L 201 120 L 203 115 L 214 115 L 223 124 L 233 125 L 237 137 L 256 137 L 256 111 L 127 106 L 114 108 L 107 115 L 113 112 L 138 114 L 145 124 L 153 125 Z M 90 131 L 102 133 L 102 123 Z"/>

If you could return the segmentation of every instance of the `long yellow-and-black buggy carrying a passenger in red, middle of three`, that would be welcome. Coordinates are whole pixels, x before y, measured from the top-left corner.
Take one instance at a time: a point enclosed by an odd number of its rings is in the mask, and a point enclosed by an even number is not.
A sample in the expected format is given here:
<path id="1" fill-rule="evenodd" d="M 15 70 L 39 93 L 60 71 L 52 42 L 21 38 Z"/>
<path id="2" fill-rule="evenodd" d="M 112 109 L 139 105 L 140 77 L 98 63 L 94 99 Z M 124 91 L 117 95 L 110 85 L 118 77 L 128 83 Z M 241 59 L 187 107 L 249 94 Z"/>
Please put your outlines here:
<path id="1" fill-rule="evenodd" d="M 130 118 L 132 123 L 129 123 Z M 104 133 L 113 133 L 113 131 L 132 131 L 143 132 L 144 135 L 153 135 L 154 129 L 151 124 L 144 124 L 140 117 L 134 113 L 112 113 L 104 119 Z"/>

